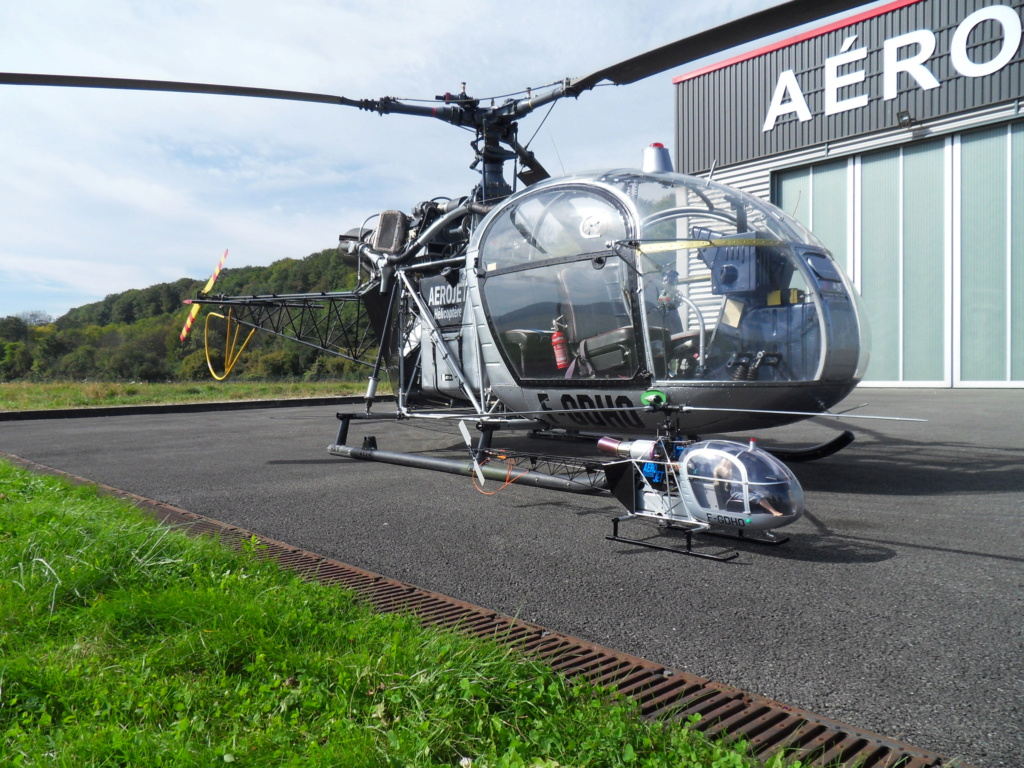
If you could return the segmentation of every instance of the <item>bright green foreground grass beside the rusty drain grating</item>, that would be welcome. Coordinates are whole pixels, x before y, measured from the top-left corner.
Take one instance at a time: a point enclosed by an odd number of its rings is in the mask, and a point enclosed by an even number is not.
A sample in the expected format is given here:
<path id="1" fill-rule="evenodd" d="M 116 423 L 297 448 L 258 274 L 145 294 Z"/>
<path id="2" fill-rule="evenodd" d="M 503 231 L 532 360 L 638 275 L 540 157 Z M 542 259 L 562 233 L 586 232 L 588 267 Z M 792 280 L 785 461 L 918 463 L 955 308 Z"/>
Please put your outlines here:
<path id="1" fill-rule="evenodd" d="M 0 462 L 0 765 L 756 764 L 246 549 Z"/>

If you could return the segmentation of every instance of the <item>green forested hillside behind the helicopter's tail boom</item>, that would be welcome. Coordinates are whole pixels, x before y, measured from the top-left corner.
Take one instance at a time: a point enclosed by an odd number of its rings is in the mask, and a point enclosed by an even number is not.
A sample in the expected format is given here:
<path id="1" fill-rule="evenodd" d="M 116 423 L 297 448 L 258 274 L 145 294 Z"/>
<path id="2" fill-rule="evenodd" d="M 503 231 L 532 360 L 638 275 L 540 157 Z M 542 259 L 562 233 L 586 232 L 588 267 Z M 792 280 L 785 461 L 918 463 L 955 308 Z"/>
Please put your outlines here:
<path id="1" fill-rule="evenodd" d="M 228 295 L 341 291 L 354 270 L 334 248 L 269 266 L 224 269 L 216 293 Z M 205 280 L 183 278 L 111 294 L 51 321 L 39 313 L 0 318 L 0 381 L 90 379 L 169 381 L 208 377 L 203 315 L 184 343 L 178 334 L 186 307 Z M 337 377 L 350 373 L 345 360 L 301 344 L 257 334 L 232 375 L 249 378 Z"/>

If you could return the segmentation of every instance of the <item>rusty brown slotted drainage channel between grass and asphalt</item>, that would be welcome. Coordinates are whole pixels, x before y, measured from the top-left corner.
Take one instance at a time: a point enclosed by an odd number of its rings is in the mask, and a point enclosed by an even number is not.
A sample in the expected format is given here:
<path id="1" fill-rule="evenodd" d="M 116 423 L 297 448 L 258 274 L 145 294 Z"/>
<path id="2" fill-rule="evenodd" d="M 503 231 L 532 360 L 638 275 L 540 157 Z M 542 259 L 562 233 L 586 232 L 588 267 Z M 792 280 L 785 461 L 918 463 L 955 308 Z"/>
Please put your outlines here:
<path id="1" fill-rule="evenodd" d="M 191 536 L 216 537 L 227 546 L 256 541 L 267 557 L 310 581 L 351 590 L 381 612 L 407 612 L 424 626 L 435 626 L 486 638 L 541 659 L 567 679 L 614 687 L 634 699 L 645 718 L 688 720 L 712 738 L 744 739 L 761 760 L 784 752 L 804 765 L 858 768 L 971 768 L 868 731 L 764 696 L 662 667 L 637 656 L 552 632 L 539 625 L 481 608 L 429 590 L 297 549 L 209 517 L 94 483 L 18 457 L 0 456 L 34 472 L 95 485 L 148 512 L 167 525 Z"/>

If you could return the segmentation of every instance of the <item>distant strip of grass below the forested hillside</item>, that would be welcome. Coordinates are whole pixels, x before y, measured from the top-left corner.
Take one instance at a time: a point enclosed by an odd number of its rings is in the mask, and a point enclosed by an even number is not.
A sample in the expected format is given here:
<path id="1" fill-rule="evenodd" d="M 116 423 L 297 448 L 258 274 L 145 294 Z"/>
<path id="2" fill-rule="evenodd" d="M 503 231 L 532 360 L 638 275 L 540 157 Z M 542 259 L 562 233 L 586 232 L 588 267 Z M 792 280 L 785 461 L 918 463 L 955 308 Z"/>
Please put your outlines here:
<path id="1" fill-rule="evenodd" d="M 3 382 L 0 412 L 334 397 L 362 394 L 366 388 L 365 381 Z"/>

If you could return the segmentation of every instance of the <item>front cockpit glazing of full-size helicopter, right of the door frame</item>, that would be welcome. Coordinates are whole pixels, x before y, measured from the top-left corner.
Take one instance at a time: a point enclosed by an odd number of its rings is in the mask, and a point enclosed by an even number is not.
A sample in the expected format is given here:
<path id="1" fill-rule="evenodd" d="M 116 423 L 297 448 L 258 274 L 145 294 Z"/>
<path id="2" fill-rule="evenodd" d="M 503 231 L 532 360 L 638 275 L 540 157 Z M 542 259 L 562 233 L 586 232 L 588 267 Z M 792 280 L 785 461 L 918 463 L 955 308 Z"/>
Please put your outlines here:
<path id="1" fill-rule="evenodd" d="M 794 232 L 719 185 L 646 183 L 637 197 L 655 380 L 813 380 L 821 324 Z"/>

